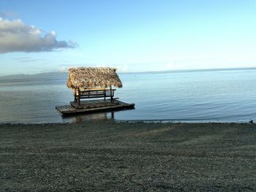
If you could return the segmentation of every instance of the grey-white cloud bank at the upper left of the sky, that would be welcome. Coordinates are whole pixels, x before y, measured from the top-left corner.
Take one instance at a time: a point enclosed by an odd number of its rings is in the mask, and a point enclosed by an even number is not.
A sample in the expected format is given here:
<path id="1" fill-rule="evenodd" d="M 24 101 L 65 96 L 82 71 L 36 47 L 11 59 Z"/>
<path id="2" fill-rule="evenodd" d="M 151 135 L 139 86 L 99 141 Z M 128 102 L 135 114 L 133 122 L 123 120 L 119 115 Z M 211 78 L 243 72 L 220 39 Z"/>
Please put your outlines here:
<path id="1" fill-rule="evenodd" d="M 48 52 L 77 46 L 76 42 L 58 41 L 55 31 L 43 34 L 41 29 L 27 26 L 22 20 L 0 18 L 0 53 Z"/>

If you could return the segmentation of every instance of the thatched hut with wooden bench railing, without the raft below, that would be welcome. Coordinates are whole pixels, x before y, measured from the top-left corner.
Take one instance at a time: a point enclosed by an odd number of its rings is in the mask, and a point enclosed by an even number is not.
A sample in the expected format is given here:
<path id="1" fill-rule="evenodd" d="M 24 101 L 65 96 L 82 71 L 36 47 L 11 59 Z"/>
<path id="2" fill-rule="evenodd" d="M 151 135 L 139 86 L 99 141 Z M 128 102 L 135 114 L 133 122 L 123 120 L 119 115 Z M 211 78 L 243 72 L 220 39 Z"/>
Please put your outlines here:
<path id="1" fill-rule="evenodd" d="M 121 80 L 115 68 L 110 67 L 78 67 L 70 68 L 67 87 L 72 88 L 75 101 L 80 105 L 80 99 L 110 97 L 113 102 L 112 87 L 122 87 Z"/>

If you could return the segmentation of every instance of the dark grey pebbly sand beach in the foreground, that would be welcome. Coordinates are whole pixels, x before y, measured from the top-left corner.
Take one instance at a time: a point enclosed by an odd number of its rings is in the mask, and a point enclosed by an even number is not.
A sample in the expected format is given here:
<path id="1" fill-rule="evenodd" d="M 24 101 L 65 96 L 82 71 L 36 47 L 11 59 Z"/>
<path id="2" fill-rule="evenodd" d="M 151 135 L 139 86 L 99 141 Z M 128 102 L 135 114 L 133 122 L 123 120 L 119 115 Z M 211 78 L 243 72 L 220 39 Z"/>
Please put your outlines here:
<path id="1" fill-rule="evenodd" d="M 256 191 L 255 124 L 0 125 L 0 191 Z"/>

